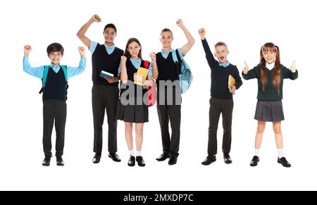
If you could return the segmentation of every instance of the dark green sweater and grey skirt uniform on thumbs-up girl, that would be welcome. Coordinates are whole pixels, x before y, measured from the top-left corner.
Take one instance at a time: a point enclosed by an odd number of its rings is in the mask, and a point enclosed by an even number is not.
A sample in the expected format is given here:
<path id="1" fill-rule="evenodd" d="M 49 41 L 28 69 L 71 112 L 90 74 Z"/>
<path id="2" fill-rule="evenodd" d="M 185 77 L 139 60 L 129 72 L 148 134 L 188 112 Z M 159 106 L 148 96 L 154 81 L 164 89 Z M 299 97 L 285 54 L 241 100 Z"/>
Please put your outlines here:
<path id="1" fill-rule="evenodd" d="M 265 90 L 263 91 L 263 85 L 261 82 L 261 66 L 258 65 L 253 69 L 249 70 L 247 74 L 242 72 L 242 76 L 245 80 L 258 79 L 258 102 L 256 103 L 256 112 L 254 115 L 255 120 L 264 122 L 278 122 L 285 120 L 284 112 L 282 107 L 282 97 L 283 97 L 283 80 L 289 78 L 290 80 L 295 80 L 298 77 L 298 71 L 295 73 L 285 66 L 281 66 L 280 72 L 280 89 L 275 92 L 273 87 L 273 67 L 266 63 L 266 75 L 267 84 Z"/>

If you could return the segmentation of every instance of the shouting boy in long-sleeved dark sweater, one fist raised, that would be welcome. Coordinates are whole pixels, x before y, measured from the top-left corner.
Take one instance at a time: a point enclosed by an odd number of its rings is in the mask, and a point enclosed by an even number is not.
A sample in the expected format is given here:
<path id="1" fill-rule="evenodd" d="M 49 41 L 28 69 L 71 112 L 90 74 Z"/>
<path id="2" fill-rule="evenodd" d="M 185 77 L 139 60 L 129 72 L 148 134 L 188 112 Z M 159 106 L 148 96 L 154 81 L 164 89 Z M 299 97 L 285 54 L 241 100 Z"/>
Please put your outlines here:
<path id="1" fill-rule="evenodd" d="M 231 127 L 232 127 L 232 111 L 233 98 L 236 89 L 242 85 L 242 80 L 237 66 L 233 66 L 227 60 L 229 54 L 227 45 L 223 42 L 218 42 L 215 45 L 215 56 L 213 57 L 206 40 L 206 30 L 201 28 L 199 31 L 201 43 L 203 44 L 206 59 L 211 68 L 211 99 L 209 101 L 209 142 L 208 156 L 202 162 L 203 165 L 209 165 L 216 161 L 217 154 L 217 130 L 220 114 L 223 116 L 223 159 L 225 163 L 232 163 L 230 157 L 231 149 Z M 235 85 L 228 85 L 228 77 L 235 78 Z"/>

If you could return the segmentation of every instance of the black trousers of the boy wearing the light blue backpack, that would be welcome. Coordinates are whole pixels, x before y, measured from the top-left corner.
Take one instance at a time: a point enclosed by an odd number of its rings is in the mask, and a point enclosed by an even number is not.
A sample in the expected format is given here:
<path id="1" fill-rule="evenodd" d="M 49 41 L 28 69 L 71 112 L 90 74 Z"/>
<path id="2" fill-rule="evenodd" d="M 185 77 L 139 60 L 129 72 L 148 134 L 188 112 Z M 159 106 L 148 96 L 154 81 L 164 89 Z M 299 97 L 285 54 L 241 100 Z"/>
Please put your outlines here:
<path id="1" fill-rule="evenodd" d="M 167 105 L 167 101 L 165 101 L 165 104 L 159 104 L 159 95 L 160 94 L 158 90 L 157 113 L 161 127 L 163 153 L 170 154 L 172 156 L 178 156 L 178 151 L 180 149 L 181 105 L 175 105 L 175 101 L 173 102 L 173 105 Z M 175 92 L 173 93 L 173 97 L 175 99 Z M 172 130 L 171 137 L 168 127 L 169 122 Z"/>

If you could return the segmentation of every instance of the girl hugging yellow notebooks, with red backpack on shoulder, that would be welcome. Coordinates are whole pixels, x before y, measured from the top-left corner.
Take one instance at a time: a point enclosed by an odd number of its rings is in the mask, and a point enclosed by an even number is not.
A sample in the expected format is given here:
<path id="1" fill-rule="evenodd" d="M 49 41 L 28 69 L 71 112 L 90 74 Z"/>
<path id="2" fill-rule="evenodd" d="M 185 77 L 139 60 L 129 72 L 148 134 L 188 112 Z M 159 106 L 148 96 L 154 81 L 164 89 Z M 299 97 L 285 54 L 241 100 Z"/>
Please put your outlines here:
<path id="1" fill-rule="evenodd" d="M 137 74 L 138 68 L 148 70 L 147 79 L 143 80 Z M 119 72 L 120 73 L 120 72 Z M 144 159 L 141 155 L 143 142 L 144 123 L 149 122 L 149 110 L 147 101 L 144 101 L 147 94 L 147 87 L 153 84 L 151 65 L 149 61 L 142 59 L 142 46 L 138 39 L 131 38 L 125 46 L 125 54 L 121 57 L 121 86 L 120 100 L 118 102 L 117 119 L 125 122 L 125 139 L 130 151 L 128 166 L 145 166 Z M 134 82 L 139 81 L 142 85 L 136 85 Z M 128 94 L 127 94 L 128 93 Z M 137 147 L 137 157 L 133 149 L 133 123 L 135 123 L 135 142 Z"/>

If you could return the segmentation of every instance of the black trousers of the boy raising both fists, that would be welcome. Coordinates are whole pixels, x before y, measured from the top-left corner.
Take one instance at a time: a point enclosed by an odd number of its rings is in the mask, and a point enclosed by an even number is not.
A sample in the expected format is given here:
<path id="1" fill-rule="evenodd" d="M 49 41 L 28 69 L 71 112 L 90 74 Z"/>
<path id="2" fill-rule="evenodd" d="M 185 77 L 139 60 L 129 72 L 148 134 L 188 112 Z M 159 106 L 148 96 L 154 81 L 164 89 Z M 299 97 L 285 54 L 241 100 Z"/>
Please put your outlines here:
<path id="1" fill-rule="evenodd" d="M 43 102 L 43 149 L 45 156 L 51 154 L 51 132 L 55 120 L 56 156 L 63 156 L 66 125 L 66 101 L 46 100 Z"/>

